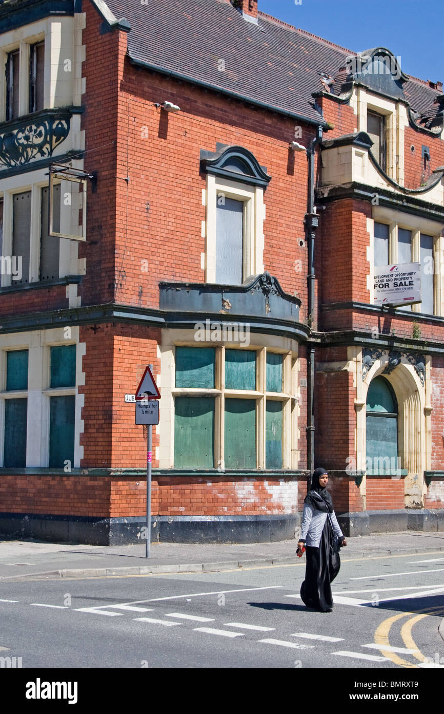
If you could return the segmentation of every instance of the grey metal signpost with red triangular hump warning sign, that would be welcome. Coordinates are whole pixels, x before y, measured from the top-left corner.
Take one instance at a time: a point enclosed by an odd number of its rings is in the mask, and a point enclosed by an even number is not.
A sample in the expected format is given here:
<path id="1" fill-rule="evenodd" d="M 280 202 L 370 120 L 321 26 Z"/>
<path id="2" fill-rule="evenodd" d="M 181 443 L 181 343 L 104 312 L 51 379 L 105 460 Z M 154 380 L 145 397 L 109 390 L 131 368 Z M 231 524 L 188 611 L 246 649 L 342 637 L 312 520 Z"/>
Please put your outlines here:
<path id="1" fill-rule="evenodd" d="M 153 399 L 154 397 L 154 399 Z M 146 424 L 147 429 L 147 508 L 145 558 L 151 552 L 151 466 L 153 463 L 153 424 L 159 423 L 160 393 L 153 378 L 153 365 L 145 369 L 135 393 L 135 423 Z"/>

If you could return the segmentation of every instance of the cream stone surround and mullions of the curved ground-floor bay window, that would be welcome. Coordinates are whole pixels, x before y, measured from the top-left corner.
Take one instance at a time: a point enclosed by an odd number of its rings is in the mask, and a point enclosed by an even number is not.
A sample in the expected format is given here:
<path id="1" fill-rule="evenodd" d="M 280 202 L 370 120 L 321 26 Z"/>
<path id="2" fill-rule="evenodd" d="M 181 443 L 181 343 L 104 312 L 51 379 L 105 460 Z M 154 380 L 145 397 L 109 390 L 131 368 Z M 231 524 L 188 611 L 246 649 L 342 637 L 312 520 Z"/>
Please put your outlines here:
<path id="1" fill-rule="evenodd" d="M 217 318 L 215 318 L 215 321 Z M 214 322 L 212 320 L 212 322 Z M 223 323 L 221 323 L 223 325 Z M 280 338 L 268 335 L 250 334 L 250 343 L 248 347 L 242 347 L 242 343 L 229 342 L 196 342 L 194 330 L 162 330 L 162 345 L 159 347 L 159 356 L 161 362 L 160 372 L 160 391 L 162 393 L 162 401 L 160 404 L 160 423 L 157 428 L 157 433 L 160 435 L 160 446 L 156 447 L 155 458 L 159 461 L 159 468 L 174 468 L 174 415 L 175 405 L 174 397 L 177 396 L 202 396 L 203 394 L 214 393 L 216 398 L 220 400 L 220 407 L 216 406 L 216 415 L 219 412 L 220 416 L 215 418 L 215 466 L 219 471 L 224 471 L 223 468 L 223 440 L 222 433 L 224 430 L 224 387 L 220 365 L 222 357 L 216 356 L 216 384 L 220 383 L 220 388 L 216 389 L 192 389 L 192 388 L 175 388 L 175 348 L 177 346 L 187 347 L 215 347 L 219 348 L 219 353 L 227 348 L 233 349 L 248 349 L 259 352 L 257 358 L 257 374 L 259 383 L 266 378 L 265 355 L 266 349 L 274 353 L 281 353 L 284 356 L 284 390 L 282 393 L 269 393 L 269 398 L 277 399 L 284 402 L 283 408 L 283 424 L 282 434 L 284 448 L 282 451 L 283 466 L 282 468 L 297 469 L 299 462 L 298 439 L 298 416 L 299 416 L 299 360 L 298 360 L 298 344 L 288 338 Z M 265 383 L 260 391 L 244 391 L 244 390 L 229 390 L 230 397 L 249 398 L 257 401 L 257 421 L 256 421 L 256 445 L 257 445 L 257 468 L 266 468 L 265 461 L 265 400 L 267 396 Z"/>

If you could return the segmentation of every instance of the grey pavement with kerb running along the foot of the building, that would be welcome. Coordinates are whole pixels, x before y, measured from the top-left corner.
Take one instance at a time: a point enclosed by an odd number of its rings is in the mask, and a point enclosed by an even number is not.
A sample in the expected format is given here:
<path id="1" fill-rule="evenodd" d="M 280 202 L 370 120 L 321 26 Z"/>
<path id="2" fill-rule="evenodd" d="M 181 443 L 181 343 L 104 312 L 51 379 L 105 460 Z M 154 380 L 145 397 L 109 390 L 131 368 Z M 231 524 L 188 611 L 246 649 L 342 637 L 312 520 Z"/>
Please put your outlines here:
<path id="1" fill-rule="evenodd" d="M 408 553 L 443 552 L 444 533 L 381 533 L 347 538 L 341 560 L 377 558 Z M 296 540 L 277 543 L 145 543 L 137 545 L 78 545 L 41 540 L 0 541 L 0 580 L 202 573 L 296 563 Z M 443 628 L 444 638 L 444 628 Z"/>

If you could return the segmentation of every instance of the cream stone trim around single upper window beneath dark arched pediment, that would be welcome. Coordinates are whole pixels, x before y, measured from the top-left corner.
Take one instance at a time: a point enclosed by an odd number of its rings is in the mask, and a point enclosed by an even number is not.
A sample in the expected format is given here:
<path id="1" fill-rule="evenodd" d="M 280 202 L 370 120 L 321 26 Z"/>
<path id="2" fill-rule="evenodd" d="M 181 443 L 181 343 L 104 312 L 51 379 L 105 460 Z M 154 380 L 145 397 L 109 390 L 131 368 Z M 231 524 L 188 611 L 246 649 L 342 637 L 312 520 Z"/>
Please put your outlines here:
<path id="1" fill-rule="evenodd" d="M 207 212 L 205 220 L 205 281 L 216 281 L 216 214 L 220 194 L 244 203 L 244 256 L 242 281 L 264 272 L 264 189 L 247 183 L 228 181 L 207 174 Z M 204 198 L 202 192 L 202 200 Z M 202 233 L 205 236 L 204 221 Z"/>

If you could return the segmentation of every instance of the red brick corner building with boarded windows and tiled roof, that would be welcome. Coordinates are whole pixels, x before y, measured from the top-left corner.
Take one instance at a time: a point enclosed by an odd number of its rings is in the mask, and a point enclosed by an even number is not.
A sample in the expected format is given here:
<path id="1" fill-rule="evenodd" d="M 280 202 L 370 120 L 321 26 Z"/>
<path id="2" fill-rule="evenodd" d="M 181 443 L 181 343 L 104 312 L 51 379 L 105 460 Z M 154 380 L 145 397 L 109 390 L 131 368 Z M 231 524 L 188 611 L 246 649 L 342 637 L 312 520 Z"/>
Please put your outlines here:
<path id="1" fill-rule="evenodd" d="M 292 537 L 319 465 L 347 533 L 442 530 L 442 84 L 255 0 L 16 0 L 0 43 L 1 533 L 140 538 L 148 363 L 153 538 Z"/>

